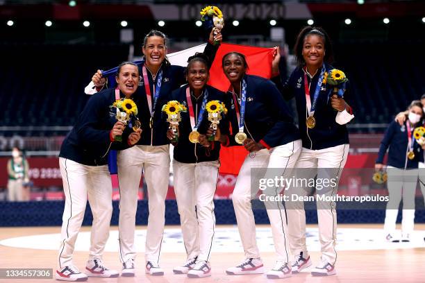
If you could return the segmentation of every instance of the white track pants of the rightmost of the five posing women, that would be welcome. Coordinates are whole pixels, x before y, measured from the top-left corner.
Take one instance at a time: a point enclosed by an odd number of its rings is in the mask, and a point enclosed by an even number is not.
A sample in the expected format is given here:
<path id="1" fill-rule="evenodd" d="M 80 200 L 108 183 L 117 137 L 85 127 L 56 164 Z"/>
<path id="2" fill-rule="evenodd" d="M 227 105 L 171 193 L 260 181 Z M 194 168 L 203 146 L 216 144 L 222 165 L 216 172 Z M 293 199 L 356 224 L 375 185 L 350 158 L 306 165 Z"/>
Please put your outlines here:
<path id="1" fill-rule="evenodd" d="M 303 148 L 299 160 L 297 162 L 297 170 L 303 168 L 313 168 L 317 170 L 308 171 L 313 173 L 312 176 L 306 176 L 304 171 L 301 172 L 303 178 L 314 178 L 317 173 L 317 178 L 340 178 L 347 155 L 349 153 L 349 144 L 333 146 L 317 151 Z M 324 170 L 320 170 L 324 169 Z M 324 193 L 326 196 L 334 196 L 338 191 L 336 187 L 327 189 Z M 296 192 L 290 191 L 290 194 L 305 194 L 305 190 L 297 189 Z M 292 204 L 293 205 L 293 204 Z M 306 212 L 303 209 L 303 203 L 297 203 L 297 207 L 287 209 L 288 214 L 288 230 L 290 232 L 290 244 L 292 254 L 299 255 L 299 252 L 306 252 Z M 335 264 L 337 252 L 336 244 L 336 226 L 337 214 L 335 202 L 318 202 L 317 203 L 317 219 L 319 224 L 319 240 L 322 250 L 322 258 L 326 259 L 331 264 Z"/>

